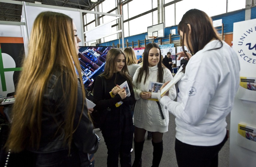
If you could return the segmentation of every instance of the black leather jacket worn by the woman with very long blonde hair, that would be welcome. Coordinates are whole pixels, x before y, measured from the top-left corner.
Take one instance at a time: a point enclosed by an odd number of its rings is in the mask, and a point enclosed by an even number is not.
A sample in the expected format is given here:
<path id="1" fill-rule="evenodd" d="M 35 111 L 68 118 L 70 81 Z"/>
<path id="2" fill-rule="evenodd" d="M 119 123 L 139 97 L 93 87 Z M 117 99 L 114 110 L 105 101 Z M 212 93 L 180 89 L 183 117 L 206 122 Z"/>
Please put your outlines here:
<path id="1" fill-rule="evenodd" d="M 64 80 L 64 79 L 63 79 Z M 63 83 L 65 84 L 65 83 Z M 68 152 L 68 145 L 63 144 L 64 140 L 64 130 L 63 124 L 65 123 L 65 114 L 66 114 L 66 102 L 63 97 L 68 97 L 69 94 L 65 94 L 65 91 L 62 88 L 62 82 L 60 73 L 55 73 L 51 76 L 48 84 L 47 90 L 44 94 L 43 99 L 43 112 L 42 112 L 42 126 L 41 126 L 41 142 L 39 149 L 28 148 L 29 151 L 35 153 L 37 155 L 36 163 L 37 166 L 40 164 L 46 165 L 56 164 L 56 161 L 62 161 L 65 158 L 66 152 Z M 91 123 L 88 114 L 87 114 L 87 106 L 86 102 L 84 103 L 84 110 L 82 114 L 81 121 L 79 122 L 79 118 L 81 115 L 82 109 L 82 89 L 81 83 L 78 79 L 78 100 L 77 107 L 75 112 L 74 119 L 74 129 L 78 127 L 73 134 L 73 143 L 71 156 L 77 156 L 76 159 L 81 160 L 81 166 L 88 166 L 88 153 L 93 154 L 98 149 L 98 140 L 93 130 L 93 124 Z M 69 98 L 67 98 L 69 99 Z M 69 99 L 72 100 L 72 99 Z M 70 118 L 72 119 L 72 118 Z M 64 157 L 61 158 L 59 156 L 63 154 Z M 44 155 L 57 155 L 55 158 L 51 158 L 54 162 L 49 162 L 49 158 L 46 156 L 47 160 L 44 159 Z M 78 156 L 79 155 L 79 156 Z M 69 157 L 71 157 L 69 156 Z M 40 158 L 39 158 L 40 157 Z M 52 156 L 51 156 L 52 157 Z M 72 157 L 74 159 L 74 157 Z M 74 164 L 73 164 L 74 166 Z"/>

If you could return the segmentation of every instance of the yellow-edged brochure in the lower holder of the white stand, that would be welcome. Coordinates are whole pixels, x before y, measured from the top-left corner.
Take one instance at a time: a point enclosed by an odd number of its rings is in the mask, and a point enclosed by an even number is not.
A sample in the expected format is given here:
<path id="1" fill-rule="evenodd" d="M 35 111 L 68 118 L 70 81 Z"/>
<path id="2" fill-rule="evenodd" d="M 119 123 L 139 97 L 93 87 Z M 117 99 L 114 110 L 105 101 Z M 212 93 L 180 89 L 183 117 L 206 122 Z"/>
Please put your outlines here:
<path id="1" fill-rule="evenodd" d="M 256 142 L 256 127 L 245 124 L 239 123 L 238 124 L 238 133 L 246 139 Z"/>

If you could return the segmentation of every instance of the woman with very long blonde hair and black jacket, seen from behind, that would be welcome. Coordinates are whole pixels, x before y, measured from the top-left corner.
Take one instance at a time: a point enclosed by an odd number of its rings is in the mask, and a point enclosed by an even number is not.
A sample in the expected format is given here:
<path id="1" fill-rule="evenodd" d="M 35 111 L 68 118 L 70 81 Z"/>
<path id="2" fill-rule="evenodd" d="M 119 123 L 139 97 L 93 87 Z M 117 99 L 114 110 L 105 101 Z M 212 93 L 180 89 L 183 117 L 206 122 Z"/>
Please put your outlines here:
<path id="1" fill-rule="evenodd" d="M 30 156 L 17 166 L 85 167 L 88 153 L 98 149 L 76 73 L 81 41 L 76 31 L 62 13 L 42 12 L 35 19 L 6 143 L 12 153 Z"/>

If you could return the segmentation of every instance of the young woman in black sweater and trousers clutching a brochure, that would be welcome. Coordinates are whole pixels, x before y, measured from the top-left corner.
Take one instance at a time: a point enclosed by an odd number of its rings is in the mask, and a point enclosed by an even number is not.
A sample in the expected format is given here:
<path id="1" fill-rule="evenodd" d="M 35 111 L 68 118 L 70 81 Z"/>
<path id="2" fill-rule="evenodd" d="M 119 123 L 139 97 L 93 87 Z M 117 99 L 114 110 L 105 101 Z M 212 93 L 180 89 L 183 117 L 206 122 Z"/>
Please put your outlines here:
<path id="1" fill-rule="evenodd" d="M 131 149 L 133 146 L 133 118 L 129 106 L 135 102 L 133 81 L 128 75 L 125 54 L 121 49 L 108 51 L 105 70 L 101 74 L 106 79 L 106 94 L 102 90 L 101 77 L 96 77 L 93 97 L 94 109 L 101 113 L 101 132 L 108 149 L 107 166 L 118 167 L 118 157 L 122 167 L 131 166 Z M 125 88 L 120 88 L 127 81 L 131 95 L 126 96 Z M 109 92 L 115 97 L 111 98 Z M 115 104 L 122 101 L 123 104 Z"/>

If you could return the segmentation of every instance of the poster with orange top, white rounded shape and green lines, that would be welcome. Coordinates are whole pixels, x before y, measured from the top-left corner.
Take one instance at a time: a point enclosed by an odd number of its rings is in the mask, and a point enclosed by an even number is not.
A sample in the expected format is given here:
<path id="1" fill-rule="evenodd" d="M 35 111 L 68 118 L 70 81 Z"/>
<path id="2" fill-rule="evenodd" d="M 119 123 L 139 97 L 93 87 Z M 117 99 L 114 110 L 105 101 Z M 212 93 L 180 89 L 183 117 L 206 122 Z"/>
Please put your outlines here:
<path id="1" fill-rule="evenodd" d="M 0 37 L 0 97 L 15 92 L 23 56 L 22 37 Z"/>

